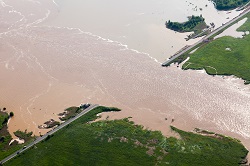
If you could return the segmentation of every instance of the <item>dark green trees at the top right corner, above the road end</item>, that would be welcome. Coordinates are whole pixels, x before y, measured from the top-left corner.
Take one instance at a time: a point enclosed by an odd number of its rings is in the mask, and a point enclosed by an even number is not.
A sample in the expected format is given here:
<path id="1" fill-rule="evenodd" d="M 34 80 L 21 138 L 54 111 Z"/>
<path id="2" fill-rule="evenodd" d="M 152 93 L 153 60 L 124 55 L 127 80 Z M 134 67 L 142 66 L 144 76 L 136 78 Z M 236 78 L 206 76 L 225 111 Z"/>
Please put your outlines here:
<path id="1" fill-rule="evenodd" d="M 218 10 L 231 10 L 242 6 L 249 2 L 249 0 L 212 0 Z"/>

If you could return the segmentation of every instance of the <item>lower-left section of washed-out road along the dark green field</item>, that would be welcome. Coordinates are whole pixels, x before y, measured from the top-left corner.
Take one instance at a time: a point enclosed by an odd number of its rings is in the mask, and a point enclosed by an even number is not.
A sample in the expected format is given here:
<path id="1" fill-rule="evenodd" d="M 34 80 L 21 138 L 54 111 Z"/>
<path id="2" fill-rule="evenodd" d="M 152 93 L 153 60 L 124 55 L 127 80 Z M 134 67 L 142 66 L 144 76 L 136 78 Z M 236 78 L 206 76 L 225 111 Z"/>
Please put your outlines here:
<path id="1" fill-rule="evenodd" d="M 3 164 L 5 162 L 9 161 L 10 159 L 16 157 L 18 154 L 23 153 L 27 149 L 31 148 L 35 144 L 37 144 L 37 143 L 41 142 L 42 140 L 44 140 L 45 138 L 47 138 L 48 135 L 54 134 L 55 132 L 57 132 L 61 128 L 65 127 L 66 125 L 70 124 L 71 122 L 75 121 L 76 119 L 80 118 L 81 116 L 83 116 L 84 114 L 88 113 L 89 111 L 93 110 L 94 108 L 96 108 L 98 106 L 99 106 L 98 104 L 90 105 L 88 108 L 83 110 L 80 114 L 76 115 L 74 118 L 67 120 L 66 122 L 62 123 L 60 126 L 56 127 L 54 130 L 51 130 L 48 133 L 44 134 L 42 137 L 37 137 L 36 140 L 34 142 L 30 143 L 29 145 L 27 145 L 26 148 L 23 148 L 21 150 L 16 151 L 12 155 L 3 159 L 0 163 Z"/>

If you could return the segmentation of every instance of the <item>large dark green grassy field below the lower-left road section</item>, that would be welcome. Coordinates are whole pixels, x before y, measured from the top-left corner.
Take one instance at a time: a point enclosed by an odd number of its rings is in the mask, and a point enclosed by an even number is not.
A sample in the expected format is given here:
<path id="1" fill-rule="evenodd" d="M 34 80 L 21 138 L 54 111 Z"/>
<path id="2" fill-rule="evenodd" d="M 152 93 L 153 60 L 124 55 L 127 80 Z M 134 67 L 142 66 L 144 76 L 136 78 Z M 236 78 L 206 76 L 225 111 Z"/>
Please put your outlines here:
<path id="1" fill-rule="evenodd" d="M 98 121 L 98 107 L 6 165 L 238 165 L 247 150 L 235 139 L 202 136 L 172 127 L 166 138 L 128 119 Z M 211 133 L 213 134 L 213 133 Z"/>

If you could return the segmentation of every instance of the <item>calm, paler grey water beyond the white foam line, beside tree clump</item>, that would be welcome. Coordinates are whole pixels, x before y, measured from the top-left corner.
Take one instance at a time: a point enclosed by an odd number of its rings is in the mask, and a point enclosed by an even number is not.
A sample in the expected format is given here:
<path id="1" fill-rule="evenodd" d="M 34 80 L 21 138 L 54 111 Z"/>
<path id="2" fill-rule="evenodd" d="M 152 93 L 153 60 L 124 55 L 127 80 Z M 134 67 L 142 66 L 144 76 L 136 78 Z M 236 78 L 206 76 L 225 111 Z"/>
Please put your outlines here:
<path id="1" fill-rule="evenodd" d="M 187 16 L 203 15 L 216 27 L 239 12 L 218 12 L 207 0 L 56 0 L 58 15 L 43 25 L 74 27 L 105 39 L 118 41 L 130 49 L 149 54 L 163 62 L 185 45 L 190 33 L 165 28 L 168 20 L 184 22 Z M 207 5 L 207 7 L 205 7 Z M 200 10 L 200 8 L 202 10 Z M 215 19 L 216 18 L 216 19 Z M 174 39 L 174 40 L 173 40 Z"/>

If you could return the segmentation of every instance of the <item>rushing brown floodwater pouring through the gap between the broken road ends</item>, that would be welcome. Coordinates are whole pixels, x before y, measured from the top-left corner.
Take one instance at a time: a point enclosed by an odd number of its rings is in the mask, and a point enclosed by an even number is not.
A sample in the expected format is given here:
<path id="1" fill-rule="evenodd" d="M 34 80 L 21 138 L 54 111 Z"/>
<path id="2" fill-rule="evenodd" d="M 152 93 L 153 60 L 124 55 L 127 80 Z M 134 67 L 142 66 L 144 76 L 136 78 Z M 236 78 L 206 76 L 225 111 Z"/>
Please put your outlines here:
<path id="1" fill-rule="evenodd" d="M 15 113 L 11 132 L 38 134 L 64 108 L 89 102 L 122 108 L 110 118 L 131 116 L 166 135 L 175 119 L 181 129 L 220 132 L 250 148 L 250 90 L 239 79 L 162 68 L 120 43 L 39 24 L 58 16 L 50 0 L 0 3 L 0 107 Z"/>

